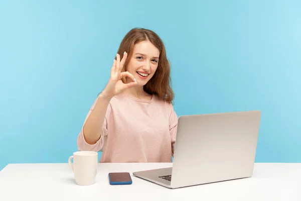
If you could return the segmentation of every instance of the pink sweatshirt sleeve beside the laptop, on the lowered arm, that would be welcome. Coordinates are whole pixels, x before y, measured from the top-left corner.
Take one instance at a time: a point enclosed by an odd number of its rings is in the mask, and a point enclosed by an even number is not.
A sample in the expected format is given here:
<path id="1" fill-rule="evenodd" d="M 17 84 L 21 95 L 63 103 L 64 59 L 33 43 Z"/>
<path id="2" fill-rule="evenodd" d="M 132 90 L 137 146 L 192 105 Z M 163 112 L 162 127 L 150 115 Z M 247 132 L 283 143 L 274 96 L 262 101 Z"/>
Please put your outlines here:
<path id="1" fill-rule="evenodd" d="M 177 128 L 178 128 L 178 116 L 174 111 L 174 107 L 172 104 L 168 104 L 168 113 L 169 113 L 169 129 L 171 135 L 171 146 L 172 146 L 172 156 L 174 156 L 175 152 L 175 144 L 177 137 Z"/>

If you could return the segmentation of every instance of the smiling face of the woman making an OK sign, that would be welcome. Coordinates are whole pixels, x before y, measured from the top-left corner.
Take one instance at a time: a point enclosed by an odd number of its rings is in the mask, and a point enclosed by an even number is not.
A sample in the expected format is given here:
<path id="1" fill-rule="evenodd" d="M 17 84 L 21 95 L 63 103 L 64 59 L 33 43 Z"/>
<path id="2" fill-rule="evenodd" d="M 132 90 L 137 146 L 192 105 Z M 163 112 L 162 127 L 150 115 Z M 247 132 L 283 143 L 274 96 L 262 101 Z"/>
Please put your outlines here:
<path id="1" fill-rule="evenodd" d="M 143 86 L 154 76 L 158 68 L 159 55 L 159 49 L 149 41 L 139 42 L 134 46 L 126 71 L 134 76 L 138 85 Z"/>

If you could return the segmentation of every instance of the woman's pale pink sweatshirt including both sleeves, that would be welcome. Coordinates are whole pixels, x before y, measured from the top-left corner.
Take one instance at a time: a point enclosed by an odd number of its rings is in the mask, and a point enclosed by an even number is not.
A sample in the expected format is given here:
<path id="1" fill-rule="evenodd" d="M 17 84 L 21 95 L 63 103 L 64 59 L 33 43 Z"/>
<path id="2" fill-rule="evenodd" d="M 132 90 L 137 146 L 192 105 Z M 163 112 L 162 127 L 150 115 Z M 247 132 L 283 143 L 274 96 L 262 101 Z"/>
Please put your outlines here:
<path id="1" fill-rule="evenodd" d="M 96 102 L 97 99 L 84 124 Z M 82 127 L 77 146 L 80 151 L 102 149 L 99 162 L 171 162 L 177 125 L 173 106 L 157 96 L 142 100 L 121 93 L 110 100 L 100 139 L 88 144 Z"/>

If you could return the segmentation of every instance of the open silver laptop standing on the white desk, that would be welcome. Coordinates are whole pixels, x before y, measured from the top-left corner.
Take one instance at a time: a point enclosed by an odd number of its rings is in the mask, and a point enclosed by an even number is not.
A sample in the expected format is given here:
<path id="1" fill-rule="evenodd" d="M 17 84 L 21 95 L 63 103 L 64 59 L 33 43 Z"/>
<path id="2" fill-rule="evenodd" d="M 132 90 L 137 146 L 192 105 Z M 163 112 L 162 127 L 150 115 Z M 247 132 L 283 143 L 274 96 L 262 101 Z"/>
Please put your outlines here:
<path id="1" fill-rule="evenodd" d="M 134 176 L 179 188 L 251 177 L 261 112 L 180 116 L 173 167 Z"/>

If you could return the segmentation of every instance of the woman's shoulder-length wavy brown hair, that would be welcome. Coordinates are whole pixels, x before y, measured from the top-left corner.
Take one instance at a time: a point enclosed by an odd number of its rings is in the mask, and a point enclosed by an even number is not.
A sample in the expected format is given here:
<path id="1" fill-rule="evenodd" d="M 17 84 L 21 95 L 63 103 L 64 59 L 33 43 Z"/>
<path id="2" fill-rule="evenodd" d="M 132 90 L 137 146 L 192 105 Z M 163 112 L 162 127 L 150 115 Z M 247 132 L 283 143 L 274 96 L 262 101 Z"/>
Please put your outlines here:
<path id="1" fill-rule="evenodd" d="M 128 58 L 131 58 L 134 45 L 147 40 L 159 49 L 160 56 L 158 68 L 154 76 L 143 86 L 143 89 L 145 92 L 154 94 L 160 99 L 173 104 L 175 94 L 171 87 L 170 63 L 166 56 L 165 46 L 154 31 L 143 28 L 131 29 L 122 39 L 117 53 L 120 55 L 120 60 L 122 59 L 124 51 L 126 51 Z M 129 59 L 125 61 L 123 69 L 121 70 L 122 72 L 126 70 L 128 62 Z M 125 82 L 125 78 L 122 81 Z"/>

